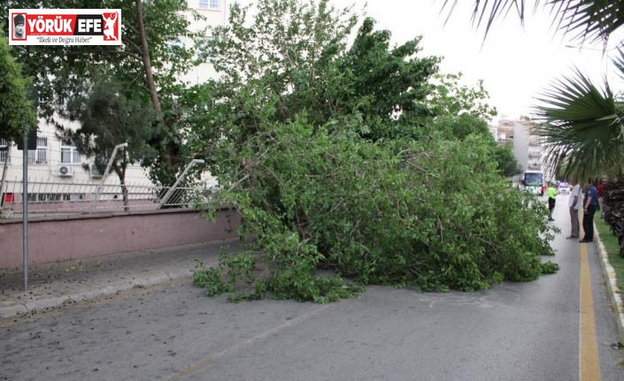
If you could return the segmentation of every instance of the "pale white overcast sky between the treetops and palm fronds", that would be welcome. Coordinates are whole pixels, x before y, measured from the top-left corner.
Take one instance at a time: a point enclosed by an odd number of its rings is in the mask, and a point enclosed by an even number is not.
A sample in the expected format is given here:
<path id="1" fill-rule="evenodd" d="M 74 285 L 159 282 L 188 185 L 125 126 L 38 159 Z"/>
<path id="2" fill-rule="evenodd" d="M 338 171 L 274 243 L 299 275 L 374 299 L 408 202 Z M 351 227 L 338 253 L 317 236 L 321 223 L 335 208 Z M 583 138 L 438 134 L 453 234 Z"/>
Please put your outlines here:
<path id="1" fill-rule="evenodd" d="M 529 11 L 524 27 L 515 14 L 509 14 L 497 20 L 484 41 L 485 29 L 471 24 L 474 0 L 460 0 L 446 25 L 448 12 L 440 13 L 443 0 L 333 1 L 339 7 L 355 4 L 356 10 L 367 4 L 366 14 L 377 20 L 378 29 L 392 33 L 393 42 L 421 35 L 421 54 L 443 57 L 442 72 L 462 72 L 468 86 L 484 81 L 498 118 L 528 116 L 537 103 L 535 97 L 555 80 L 571 76 L 574 66 L 598 83 L 609 72 L 602 45 L 579 49 L 578 43 L 556 33 L 545 11 Z"/>

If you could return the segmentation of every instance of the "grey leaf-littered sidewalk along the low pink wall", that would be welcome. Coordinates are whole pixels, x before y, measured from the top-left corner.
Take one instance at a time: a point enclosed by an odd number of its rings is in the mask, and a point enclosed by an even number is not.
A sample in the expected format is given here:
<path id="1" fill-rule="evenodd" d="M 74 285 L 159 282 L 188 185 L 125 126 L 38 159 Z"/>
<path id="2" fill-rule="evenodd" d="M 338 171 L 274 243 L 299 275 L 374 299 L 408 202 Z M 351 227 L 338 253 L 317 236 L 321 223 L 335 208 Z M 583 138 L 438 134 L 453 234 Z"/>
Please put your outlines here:
<path id="1" fill-rule="evenodd" d="M 0 270 L 0 318 L 91 300 L 119 291 L 190 278 L 196 259 L 219 261 L 220 248 L 237 248 L 239 239 L 145 250 L 63 263 L 31 265 L 28 289 L 23 269 Z"/>

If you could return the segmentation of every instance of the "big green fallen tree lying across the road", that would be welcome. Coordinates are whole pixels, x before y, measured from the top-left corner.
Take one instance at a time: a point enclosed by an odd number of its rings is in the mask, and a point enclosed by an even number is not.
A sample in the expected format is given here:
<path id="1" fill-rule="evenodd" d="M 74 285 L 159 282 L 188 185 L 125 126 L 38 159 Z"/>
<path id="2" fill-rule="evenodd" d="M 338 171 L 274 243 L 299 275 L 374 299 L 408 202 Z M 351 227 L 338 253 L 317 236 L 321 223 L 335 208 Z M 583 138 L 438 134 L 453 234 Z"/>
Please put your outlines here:
<path id="1" fill-rule="evenodd" d="M 243 145 L 218 200 L 243 215 L 250 248 L 195 272 L 207 294 L 335 301 L 358 290 L 345 278 L 473 291 L 557 269 L 539 259 L 553 255 L 545 206 L 506 187 L 480 136 L 382 143 L 341 131 L 295 122 Z"/>

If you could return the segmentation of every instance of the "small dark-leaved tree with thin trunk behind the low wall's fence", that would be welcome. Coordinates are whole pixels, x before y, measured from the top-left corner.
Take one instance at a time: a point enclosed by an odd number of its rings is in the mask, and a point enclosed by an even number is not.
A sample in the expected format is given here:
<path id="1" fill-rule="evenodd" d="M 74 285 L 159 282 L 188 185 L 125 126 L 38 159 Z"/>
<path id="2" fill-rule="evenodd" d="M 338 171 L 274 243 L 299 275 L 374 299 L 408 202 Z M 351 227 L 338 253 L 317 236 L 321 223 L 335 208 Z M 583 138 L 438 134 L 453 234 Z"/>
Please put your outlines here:
<path id="1" fill-rule="evenodd" d="M 81 154 L 93 157 L 100 173 L 104 173 L 115 146 L 127 142 L 126 151 L 112 162 L 127 209 L 127 165 L 158 154 L 149 144 L 155 133 L 152 126 L 157 112 L 150 103 L 127 99 L 114 76 L 106 75 L 97 77 L 91 86 L 85 84 L 84 92 L 67 103 L 67 115 L 80 122 L 80 126 L 75 130 L 58 126 L 61 137 L 73 141 Z"/>

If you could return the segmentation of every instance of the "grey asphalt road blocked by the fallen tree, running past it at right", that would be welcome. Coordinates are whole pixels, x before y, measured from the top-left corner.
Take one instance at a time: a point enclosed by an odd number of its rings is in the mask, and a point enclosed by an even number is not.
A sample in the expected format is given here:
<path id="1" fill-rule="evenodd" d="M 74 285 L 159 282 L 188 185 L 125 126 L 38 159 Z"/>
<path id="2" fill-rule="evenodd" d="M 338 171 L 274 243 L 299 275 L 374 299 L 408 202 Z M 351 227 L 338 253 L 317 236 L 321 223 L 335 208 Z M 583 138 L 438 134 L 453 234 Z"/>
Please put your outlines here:
<path id="1" fill-rule="evenodd" d="M 0 380 L 624 380 L 592 245 L 593 309 L 583 309 L 566 197 L 550 258 L 561 270 L 535 282 L 478 293 L 371 286 L 320 305 L 232 304 L 185 279 L 0 321 Z"/>

